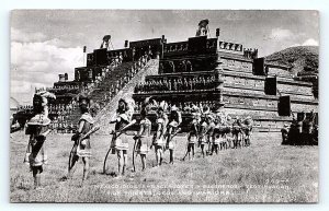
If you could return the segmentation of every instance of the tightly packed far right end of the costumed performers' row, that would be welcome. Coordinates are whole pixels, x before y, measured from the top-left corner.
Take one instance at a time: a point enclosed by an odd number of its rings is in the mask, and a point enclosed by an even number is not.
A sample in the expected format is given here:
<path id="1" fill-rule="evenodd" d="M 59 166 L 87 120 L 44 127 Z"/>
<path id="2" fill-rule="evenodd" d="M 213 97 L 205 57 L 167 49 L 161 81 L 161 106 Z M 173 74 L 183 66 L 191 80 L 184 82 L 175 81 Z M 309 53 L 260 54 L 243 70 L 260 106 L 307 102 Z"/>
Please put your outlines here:
<path id="1" fill-rule="evenodd" d="M 194 157 L 196 143 L 201 148 L 203 157 L 206 154 L 212 155 L 214 152 L 218 154 L 218 150 L 227 149 L 230 141 L 234 142 L 234 148 L 240 146 L 242 140 L 246 146 L 250 145 L 253 125 L 251 117 L 248 116 L 246 119 L 236 117 L 236 120 L 232 121 L 220 108 L 211 112 L 207 107 L 200 109 L 197 106 L 193 106 L 191 113 L 192 121 L 185 154 L 185 156 L 189 155 L 189 160 Z M 232 134 L 232 138 L 228 137 L 229 133 Z M 208 144 L 207 153 L 205 151 L 206 144 Z"/>

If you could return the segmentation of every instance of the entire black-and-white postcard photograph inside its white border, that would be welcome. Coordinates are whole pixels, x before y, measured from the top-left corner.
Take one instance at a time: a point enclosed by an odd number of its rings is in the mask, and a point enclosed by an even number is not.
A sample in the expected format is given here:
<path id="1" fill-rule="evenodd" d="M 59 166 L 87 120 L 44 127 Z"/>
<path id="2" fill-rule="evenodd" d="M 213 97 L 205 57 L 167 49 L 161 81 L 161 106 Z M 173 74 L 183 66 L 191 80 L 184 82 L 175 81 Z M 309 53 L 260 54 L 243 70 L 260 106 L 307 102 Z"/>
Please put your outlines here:
<path id="1" fill-rule="evenodd" d="M 10 202 L 317 203 L 319 17 L 12 10 Z"/>

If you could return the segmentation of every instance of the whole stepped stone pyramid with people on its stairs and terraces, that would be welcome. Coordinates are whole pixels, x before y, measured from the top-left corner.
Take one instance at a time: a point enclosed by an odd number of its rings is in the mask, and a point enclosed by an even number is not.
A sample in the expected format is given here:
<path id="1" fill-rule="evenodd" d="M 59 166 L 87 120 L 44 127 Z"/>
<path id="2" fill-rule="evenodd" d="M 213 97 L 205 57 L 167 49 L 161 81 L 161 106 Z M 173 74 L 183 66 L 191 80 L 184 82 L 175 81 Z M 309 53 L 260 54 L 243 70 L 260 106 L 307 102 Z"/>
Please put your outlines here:
<path id="1" fill-rule="evenodd" d="M 280 131 L 293 116 L 317 113 L 313 83 L 294 78 L 288 66 L 258 58 L 258 49 L 222 40 L 218 28 L 215 38 L 203 32 L 188 40 L 167 43 L 162 35 L 126 40 L 125 48 L 115 50 L 109 49 L 105 37 L 102 48 L 87 54 L 87 66 L 75 69 L 72 81 L 59 74 L 59 81 L 47 89 L 57 96 L 49 101 L 49 116 L 60 132 L 75 131 L 81 94 L 97 105 L 93 115 L 103 132 L 124 95 L 136 102 L 135 118 L 149 96 L 175 105 L 183 113 L 183 129 L 191 118 L 185 108 L 192 104 L 219 109 L 232 118 L 251 116 L 258 131 Z"/>

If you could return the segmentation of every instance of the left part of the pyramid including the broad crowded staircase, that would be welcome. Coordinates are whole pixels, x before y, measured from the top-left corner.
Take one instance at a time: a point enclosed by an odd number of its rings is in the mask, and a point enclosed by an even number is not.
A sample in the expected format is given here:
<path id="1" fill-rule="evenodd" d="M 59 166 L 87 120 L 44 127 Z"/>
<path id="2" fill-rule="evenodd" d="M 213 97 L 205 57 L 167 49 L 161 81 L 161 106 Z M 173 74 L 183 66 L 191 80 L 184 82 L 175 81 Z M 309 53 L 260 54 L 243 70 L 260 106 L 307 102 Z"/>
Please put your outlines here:
<path id="1" fill-rule="evenodd" d="M 80 117 L 78 98 L 87 95 L 101 132 L 107 131 L 109 118 L 120 97 L 132 96 L 135 84 L 147 74 L 156 74 L 159 66 L 161 39 L 131 42 L 129 48 L 110 50 L 107 47 L 87 54 L 87 66 L 75 69 L 75 80 L 59 74 L 58 82 L 46 89 L 55 93 L 49 101 L 49 117 L 58 132 L 75 132 Z M 105 45 L 104 45 L 105 46 Z M 29 118 L 25 115 L 25 118 Z"/>

